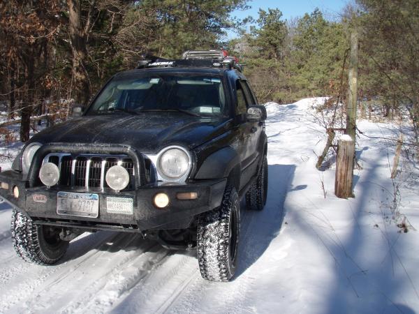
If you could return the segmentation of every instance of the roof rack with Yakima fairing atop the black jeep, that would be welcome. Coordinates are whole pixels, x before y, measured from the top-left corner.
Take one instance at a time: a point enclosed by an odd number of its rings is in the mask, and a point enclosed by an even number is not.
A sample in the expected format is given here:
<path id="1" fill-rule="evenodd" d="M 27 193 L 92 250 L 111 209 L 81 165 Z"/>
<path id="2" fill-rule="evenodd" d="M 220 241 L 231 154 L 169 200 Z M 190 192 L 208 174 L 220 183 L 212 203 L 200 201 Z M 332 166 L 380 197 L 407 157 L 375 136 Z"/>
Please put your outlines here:
<path id="1" fill-rule="evenodd" d="M 182 59 L 164 59 L 145 55 L 142 61 L 138 61 L 137 68 L 168 68 L 177 66 L 235 68 L 242 72 L 244 64 L 238 63 L 238 59 L 235 57 L 228 57 L 226 50 L 194 50 L 184 52 Z"/>

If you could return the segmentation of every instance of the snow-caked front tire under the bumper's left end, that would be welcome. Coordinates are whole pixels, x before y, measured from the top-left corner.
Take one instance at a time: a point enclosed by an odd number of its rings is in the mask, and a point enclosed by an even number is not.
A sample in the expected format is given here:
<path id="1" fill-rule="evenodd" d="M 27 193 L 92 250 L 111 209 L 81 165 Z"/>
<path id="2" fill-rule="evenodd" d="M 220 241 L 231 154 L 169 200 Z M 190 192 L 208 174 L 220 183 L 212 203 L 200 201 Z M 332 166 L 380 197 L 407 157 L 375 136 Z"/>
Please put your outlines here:
<path id="1" fill-rule="evenodd" d="M 17 255 L 26 262 L 48 265 L 57 262 L 66 253 L 68 241 L 58 234 L 48 236 L 48 227 L 35 225 L 27 216 L 13 209 L 12 243 Z"/>

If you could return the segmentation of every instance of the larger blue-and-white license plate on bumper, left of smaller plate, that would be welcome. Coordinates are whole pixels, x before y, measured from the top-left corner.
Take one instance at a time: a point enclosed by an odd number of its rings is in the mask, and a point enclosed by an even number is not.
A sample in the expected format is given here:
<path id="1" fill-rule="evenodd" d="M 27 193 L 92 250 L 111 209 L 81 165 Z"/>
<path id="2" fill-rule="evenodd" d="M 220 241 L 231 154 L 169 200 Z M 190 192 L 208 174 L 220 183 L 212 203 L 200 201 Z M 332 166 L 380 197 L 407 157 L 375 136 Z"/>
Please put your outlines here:
<path id="1" fill-rule="evenodd" d="M 97 218 L 99 195 L 91 193 L 57 193 L 57 214 Z"/>

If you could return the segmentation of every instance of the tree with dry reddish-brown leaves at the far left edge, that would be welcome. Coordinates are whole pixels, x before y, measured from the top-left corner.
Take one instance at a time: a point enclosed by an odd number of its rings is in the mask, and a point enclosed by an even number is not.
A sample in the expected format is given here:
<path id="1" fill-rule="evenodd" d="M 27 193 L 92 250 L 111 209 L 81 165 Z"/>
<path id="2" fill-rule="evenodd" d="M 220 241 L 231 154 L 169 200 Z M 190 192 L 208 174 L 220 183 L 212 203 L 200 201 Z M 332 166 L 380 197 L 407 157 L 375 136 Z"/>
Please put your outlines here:
<path id="1" fill-rule="evenodd" d="M 29 140 L 30 118 L 43 90 L 48 45 L 59 31 L 59 1 L 1 1 L 1 47 L 10 67 L 10 105 L 20 98 L 20 140 Z"/>

